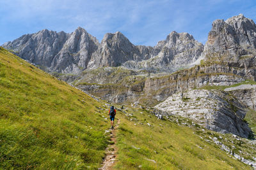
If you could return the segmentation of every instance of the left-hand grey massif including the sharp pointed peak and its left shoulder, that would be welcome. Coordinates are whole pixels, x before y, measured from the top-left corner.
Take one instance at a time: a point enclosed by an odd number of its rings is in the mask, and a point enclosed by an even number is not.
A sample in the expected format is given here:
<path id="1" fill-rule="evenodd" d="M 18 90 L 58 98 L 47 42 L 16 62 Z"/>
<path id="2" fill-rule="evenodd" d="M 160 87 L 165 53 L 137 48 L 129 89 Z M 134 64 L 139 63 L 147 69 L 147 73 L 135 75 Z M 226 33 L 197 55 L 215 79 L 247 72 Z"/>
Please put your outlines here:
<path id="1" fill-rule="evenodd" d="M 74 74 L 86 69 L 98 46 L 97 39 L 81 27 L 71 34 L 44 29 L 3 45 L 22 59 L 40 65 L 47 71 Z"/>

